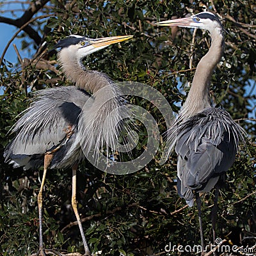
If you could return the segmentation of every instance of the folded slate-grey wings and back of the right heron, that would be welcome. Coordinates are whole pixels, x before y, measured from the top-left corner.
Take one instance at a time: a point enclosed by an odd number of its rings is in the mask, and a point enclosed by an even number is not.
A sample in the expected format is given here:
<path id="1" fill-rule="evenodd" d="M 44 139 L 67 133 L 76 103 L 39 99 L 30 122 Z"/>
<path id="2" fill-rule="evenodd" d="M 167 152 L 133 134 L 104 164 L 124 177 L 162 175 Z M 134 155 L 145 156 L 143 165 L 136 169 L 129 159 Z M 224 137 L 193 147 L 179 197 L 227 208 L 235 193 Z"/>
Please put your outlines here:
<path id="1" fill-rule="evenodd" d="M 241 132 L 222 109 L 207 109 L 180 124 L 175 146 L 180 196 L 191 200 L 192 189 L 213 188 L 234 163 Z"/>

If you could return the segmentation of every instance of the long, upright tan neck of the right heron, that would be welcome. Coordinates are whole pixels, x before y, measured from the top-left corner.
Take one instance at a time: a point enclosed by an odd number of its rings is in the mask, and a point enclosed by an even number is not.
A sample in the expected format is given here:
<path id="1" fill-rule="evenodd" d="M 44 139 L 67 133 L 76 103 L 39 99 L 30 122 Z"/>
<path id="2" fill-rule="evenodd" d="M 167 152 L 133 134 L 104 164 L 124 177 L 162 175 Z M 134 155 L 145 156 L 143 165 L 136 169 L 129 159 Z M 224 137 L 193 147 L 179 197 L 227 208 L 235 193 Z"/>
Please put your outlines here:
<path id="1" fill-rule="evenodd" d="M 199 61 L 188 97 L 180 110 L 180 119 L 200 113 L 210 108 L 209 84 L 212 72 L 221 58 L 224 37 L 220 28 L 211 31 L 211 47 L 207 54 Z"/>

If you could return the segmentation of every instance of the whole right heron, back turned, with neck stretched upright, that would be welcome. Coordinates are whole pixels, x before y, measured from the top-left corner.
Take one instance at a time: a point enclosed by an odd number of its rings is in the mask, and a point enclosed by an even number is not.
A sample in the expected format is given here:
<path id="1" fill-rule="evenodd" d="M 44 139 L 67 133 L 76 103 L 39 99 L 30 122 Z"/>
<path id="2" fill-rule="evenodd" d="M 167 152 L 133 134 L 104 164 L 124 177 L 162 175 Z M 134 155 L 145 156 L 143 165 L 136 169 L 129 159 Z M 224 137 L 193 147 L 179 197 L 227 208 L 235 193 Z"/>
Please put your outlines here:
<path id="1" fill-rule="evenodd" d="M 196 198 L 200 224 L 200 239 L 204 249 L 201 200 L 199 193 L 216 188 L 212 209 L 213 240 L 216 239 L 216 213 L 219 185 L 225 172 L 234 163 L 243 129 L 224 109 L 212 108 L 209 84 L 212 72 L 223 52 L 225 29 L 211 12 L 201 12 L 191 17 L 156 23 L 161 26 L 180 26 L 206 29 L 211 34 L 211 47 L 199 61 L 188 97 L 179 112 L 177 127 L 170 129 L 169 154 L 175 146 L 178 155 L 177 188 L 189 206 Z"/>

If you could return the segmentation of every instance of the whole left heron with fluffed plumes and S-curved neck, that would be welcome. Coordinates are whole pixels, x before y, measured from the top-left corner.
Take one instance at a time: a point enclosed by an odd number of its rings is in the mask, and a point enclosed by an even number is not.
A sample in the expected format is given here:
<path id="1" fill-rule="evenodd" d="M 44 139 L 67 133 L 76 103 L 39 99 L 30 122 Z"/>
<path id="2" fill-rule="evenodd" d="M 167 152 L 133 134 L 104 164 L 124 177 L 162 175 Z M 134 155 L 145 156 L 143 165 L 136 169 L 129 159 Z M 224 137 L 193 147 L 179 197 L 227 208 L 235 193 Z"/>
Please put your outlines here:
<path id="1" fill-rule="evenodd" d="M 55 46 L 56 49 L 60 48 L 58 61 L 65 76 L 76 83 L 76 86 L 61 86 L 36 92 L 35 100 L 12 128 L 16 136 L 6 147 L 6 161 L 10 161 L 15 167 L 23 166 L 25 170 L 44 165 L 44 175 L 38 193 L 40 241 L 36 255 L 45 255 L 47 252 L 44 249 L 42 232 L 42 191 L 47 169 L 69 166 L 72 167 L 72 207 L 83 239 L 85 255 L 91 255 L 77 211 L 77 164 L 84 158 L 83 150 L 90 149 L 92 145 L 95 152 L 102 147 L 104 140 L 106 147 L 113 147 L 114 140 L 122 129 L 118 122 L 122 120 L 127 107 L 119 96 L 119 88 L 111 79 L 100 72 L 86 70 L 82 60 L 92 52 L 131 37 L 91 39 L 71 35 L 61 40 Z M 90 105 L 84 108 L 89 98 Z M 118 111 L 120 106 L 122 111 Z M 114 109 L 117 110 L 113 111 Z M 109 114 L 111 118 L 106 134 L 102 129 Z M 79 132 L 84 138 L 78 136 Z M 92 143 L 92 140 L 95 140 L 95 143 Z"/>

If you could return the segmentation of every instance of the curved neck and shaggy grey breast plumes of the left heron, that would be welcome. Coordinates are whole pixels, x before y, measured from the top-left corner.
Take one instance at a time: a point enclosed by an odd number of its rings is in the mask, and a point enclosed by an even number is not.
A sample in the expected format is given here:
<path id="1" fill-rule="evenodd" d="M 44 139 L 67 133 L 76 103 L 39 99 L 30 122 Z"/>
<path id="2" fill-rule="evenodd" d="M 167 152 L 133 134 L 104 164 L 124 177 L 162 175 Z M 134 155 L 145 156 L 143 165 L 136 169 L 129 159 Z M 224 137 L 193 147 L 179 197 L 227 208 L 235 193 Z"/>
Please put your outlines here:
<path id="1" fill-rule="evenodd" d="M 58 61 L 70 81 L 92 94 L 79 116 L 79 140 L 84 152 L 95 152 L 96 163 L 104 145 L 115 149 L 122 129 L 120 120 L 127 108 L 118 108 L 123 105 L 120 89 L 104 74 L 86 70 L 81 61 L 70 56 L 66 49 L 59 52 Z"/>

